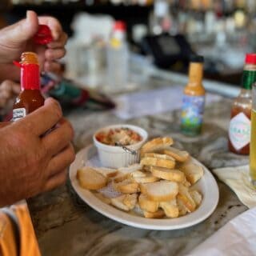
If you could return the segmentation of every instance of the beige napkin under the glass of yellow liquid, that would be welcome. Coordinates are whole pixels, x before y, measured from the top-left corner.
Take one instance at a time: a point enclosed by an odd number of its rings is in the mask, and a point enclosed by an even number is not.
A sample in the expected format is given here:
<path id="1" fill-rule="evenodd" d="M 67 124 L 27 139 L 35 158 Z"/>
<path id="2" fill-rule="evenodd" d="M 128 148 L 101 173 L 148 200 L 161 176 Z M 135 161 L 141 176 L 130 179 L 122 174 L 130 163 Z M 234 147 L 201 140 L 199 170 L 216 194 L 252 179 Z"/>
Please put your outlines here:
<path id="1" fill-rule="evenodd" d="M 213 172 L 230 186 L 244 205 L 249 208 L 256 206 L 256 189 L 250 184 L 249 166 L 226 167 Z"/>

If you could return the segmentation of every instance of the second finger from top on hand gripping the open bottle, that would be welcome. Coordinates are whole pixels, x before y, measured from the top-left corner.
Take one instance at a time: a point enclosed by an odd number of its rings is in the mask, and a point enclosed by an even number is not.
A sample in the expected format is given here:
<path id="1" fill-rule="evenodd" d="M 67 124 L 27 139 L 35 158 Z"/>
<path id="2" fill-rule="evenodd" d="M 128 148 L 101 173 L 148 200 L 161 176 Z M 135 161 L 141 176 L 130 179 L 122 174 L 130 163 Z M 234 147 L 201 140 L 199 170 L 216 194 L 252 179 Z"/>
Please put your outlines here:
<path id="1" fill-rule="evenodd" d="M 42 138 L 42 143 L 50 154 L 54 155 L 69 145 L 74 137 L 74 130 L 70 122 L 62 118 L 58 127 Z"/>

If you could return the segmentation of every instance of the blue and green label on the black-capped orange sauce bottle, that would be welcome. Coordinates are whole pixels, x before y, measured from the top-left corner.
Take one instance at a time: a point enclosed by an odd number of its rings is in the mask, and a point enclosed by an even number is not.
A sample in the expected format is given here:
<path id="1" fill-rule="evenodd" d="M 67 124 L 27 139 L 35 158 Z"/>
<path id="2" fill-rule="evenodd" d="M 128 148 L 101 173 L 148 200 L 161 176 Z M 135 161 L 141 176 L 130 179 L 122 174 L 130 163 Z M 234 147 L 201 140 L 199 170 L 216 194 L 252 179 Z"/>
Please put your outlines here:
<path id="1" fill-rule="evenodd" d="M 182 131 L 191 135 L 199 134 L 202 127 L 205 97 L 184 95 L 182 102 Z"/>

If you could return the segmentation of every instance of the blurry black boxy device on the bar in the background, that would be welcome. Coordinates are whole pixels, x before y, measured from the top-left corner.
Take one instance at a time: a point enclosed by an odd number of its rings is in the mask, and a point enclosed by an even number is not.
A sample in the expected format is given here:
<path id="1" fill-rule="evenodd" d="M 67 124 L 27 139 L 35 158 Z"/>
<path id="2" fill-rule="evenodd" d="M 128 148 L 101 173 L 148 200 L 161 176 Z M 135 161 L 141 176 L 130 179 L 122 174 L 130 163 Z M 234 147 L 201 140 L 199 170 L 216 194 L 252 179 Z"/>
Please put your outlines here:
<path id="1" fill-rule="evenodd" d="M 176 62 L 188 66 L 190 55 L 194 54 L 190 43 L 182 34 L 160 34 L 146 36 L 142 40 L 142 51 L 154 58 L 154 63 L 164 69 L 170 68 Z"/>

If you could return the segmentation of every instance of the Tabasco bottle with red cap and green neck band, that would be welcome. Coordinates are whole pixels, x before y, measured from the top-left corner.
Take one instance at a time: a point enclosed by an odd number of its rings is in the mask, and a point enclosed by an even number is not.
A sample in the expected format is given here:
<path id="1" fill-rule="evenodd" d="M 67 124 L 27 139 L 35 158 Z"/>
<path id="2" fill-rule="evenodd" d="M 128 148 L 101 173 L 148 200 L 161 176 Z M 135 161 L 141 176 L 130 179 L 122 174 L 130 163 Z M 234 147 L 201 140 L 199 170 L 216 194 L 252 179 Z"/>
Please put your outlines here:
<path id="1" fill-rule="evenodd" d="M 236 154 L 250 153 L 251 88 L 256 82 L 256 54 L 246 54 L 242 90 L 231 107 L 229 149 Z"/>

